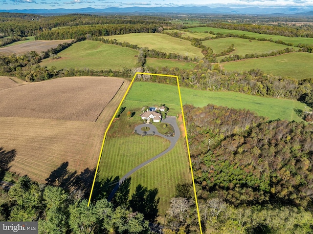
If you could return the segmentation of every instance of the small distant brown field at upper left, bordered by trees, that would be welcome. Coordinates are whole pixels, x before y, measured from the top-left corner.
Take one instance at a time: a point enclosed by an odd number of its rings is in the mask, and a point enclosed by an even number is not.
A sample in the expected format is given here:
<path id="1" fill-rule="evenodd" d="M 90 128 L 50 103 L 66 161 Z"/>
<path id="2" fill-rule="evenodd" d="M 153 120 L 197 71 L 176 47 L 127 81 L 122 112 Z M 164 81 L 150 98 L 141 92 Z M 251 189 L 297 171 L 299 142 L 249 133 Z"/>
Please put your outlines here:
<path id="1" fill-rule="evenodd" d="M 28 51 L 36 51 L 37 53 L 40 53 L 42 51 L 46 51 L 50 48 L 57 47 L 59 44 L 62 43 L 69 43 L 72 40 L 53 40 L 53 41 L 25 41 L 25 43 L 16 43 L 13 45 L 13 43 L 10 46 L 1 47 L 0 48 L 0 54 L 17 54 L 21 55 Z"/>

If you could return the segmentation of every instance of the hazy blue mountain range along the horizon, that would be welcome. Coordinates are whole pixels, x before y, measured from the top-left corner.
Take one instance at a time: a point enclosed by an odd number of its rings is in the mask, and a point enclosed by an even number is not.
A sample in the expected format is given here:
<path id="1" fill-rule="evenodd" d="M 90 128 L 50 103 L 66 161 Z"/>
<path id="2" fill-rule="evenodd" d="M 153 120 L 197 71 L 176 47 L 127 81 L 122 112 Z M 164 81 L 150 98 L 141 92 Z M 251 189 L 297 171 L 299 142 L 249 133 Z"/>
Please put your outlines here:
<path id="1" fill-rule="evenodd" d="M 92 7 L 80 9 L 23 9 L 23 10 L 1 10 L 0 12 L 14 13 L 29 13 L 29 14 L 72 14 L 72 13 L 90 13 L 90 14 L 248 14 L 248 15 L 268 15 L 268 14 L 284 14 L 284 15 L 313 15 L 312 9 L 304 9 L 297 7 L 245 7 L 245 8 L 230 8 L 230 7 L 207 7 L 207 6 L 192 6 L 192 7 L 110 7 L 97 9 Z"/>

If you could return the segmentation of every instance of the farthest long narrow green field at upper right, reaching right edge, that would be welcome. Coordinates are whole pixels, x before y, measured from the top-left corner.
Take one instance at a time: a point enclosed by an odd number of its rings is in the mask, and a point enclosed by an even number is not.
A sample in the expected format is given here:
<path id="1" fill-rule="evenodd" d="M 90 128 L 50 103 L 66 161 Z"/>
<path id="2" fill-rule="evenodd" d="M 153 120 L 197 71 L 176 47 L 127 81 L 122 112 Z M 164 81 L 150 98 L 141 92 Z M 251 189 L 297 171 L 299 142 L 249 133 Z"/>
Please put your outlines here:
<path id="1" fill-rule="evenodd" d="M 292 38 L 292 37 L 284 37 L 279 35 L 268 35 L 268 34 L 260 34 L 260 33 L 253 33 L 253 32 L 246 32 L 241 30 L 230 30 L 224 28 L 212 28 L 212 27 L 195 27 L 195 28 L 187 28 L 188 31 L 192 32 L 204 32 L 204 31 L 213 31 L 216 33 L 227 34 L 231 33 L 234 35 L 246 35 L 248 37 L 254 37 L 256 39 L 266 38 L 272 39 L 273 41 L 281 40 L 285 43 L 293 43 L 293 45 L 298 45 L 299 43 L 303 44 L 313 44 L 313 38 Z"/>

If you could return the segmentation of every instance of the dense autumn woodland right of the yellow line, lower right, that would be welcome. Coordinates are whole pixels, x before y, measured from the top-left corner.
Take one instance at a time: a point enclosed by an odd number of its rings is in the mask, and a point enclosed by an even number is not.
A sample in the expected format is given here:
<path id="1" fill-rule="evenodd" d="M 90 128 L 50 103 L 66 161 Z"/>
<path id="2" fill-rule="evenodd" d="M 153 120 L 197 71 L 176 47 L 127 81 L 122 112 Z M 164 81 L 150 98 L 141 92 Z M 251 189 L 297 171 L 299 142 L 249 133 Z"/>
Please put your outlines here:
<path id="1" fill-rule="evenodd" d="M 310 233 L 312 125 L 214 105 L 184 111 L 204 228 Z"/>

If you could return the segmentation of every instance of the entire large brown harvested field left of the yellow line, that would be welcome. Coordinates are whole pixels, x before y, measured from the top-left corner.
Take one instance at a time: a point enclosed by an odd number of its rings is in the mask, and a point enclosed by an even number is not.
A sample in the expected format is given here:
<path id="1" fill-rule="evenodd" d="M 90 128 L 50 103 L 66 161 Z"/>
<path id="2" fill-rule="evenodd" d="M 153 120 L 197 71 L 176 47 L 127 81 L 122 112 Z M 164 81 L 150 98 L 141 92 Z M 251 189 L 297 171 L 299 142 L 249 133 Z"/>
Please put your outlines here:
<path id="1" fill-rule="evenodd" d="M 71 77 L 19 85 L 0 78 L 2 84 L 0 147 L 16 150 L 11 171 L 45 183 L 64 162 L 77 172 L 95 168 L 104 131 L 129 82 Z"/>

